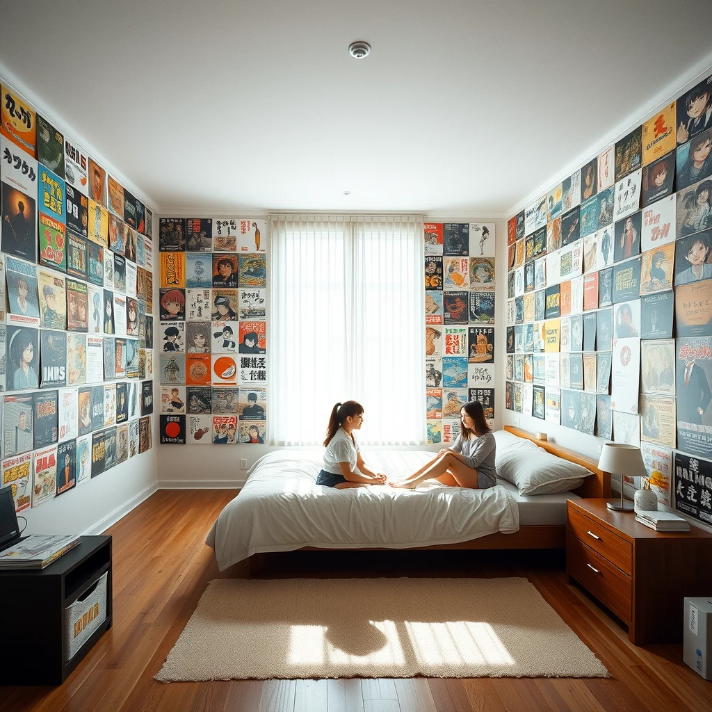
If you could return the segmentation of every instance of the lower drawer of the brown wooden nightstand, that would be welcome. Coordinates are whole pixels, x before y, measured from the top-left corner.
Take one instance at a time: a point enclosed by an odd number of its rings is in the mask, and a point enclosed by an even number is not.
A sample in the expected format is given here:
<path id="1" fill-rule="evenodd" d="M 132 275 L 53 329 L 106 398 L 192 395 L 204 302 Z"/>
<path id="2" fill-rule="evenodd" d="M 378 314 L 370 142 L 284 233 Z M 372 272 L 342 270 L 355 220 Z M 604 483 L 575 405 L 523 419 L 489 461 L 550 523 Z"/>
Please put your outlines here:
<path id="1" fill-rule="evenodd" d="M 632 579 L 575 536 L 566 537 L 566 571 L 625 622 L 632 620 Z"/>

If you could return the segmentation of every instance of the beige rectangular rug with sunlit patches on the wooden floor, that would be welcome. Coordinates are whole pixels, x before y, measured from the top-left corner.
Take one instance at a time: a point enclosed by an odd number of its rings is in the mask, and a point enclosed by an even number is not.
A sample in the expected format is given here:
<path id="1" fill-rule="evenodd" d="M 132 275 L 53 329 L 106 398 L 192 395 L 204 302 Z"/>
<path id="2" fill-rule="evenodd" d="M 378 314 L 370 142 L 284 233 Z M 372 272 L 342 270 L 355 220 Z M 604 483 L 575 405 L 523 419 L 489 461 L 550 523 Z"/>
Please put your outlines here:
<path id="1" fill-rule="evenodd" d="M 524 578 L 215 580 L 157 680 L 606 677 Z"/>

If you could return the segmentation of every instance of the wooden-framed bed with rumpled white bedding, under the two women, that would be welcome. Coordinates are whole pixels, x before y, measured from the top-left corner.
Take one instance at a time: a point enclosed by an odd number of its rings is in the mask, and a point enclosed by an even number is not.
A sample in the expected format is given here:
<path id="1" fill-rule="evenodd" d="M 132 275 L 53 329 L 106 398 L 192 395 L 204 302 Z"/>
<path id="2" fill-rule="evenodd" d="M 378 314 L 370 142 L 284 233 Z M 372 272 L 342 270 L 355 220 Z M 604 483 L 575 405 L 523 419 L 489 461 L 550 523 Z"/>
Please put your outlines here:
<path id="1" fill-rule="evenodd" d="M 508 439 L 531 441 L 590 474 L 572 491 L 537 496 L 522 496 L 501 479 L 481 491 L 445 486 L 333 491 L 315 483 L 322 449 L 283 449 L 251 468 L 206 543 L 220 570 L 248 558 L 256 566 L 261 553 L 291 550 L 564 548 L 567 499 L 609 496 L 609 474 L 595 461 L 523 430 L 506 426 L 505 431 Z M 364 451 L 370 466 L 394 476 L 432 456 L 431 451 Z"/>

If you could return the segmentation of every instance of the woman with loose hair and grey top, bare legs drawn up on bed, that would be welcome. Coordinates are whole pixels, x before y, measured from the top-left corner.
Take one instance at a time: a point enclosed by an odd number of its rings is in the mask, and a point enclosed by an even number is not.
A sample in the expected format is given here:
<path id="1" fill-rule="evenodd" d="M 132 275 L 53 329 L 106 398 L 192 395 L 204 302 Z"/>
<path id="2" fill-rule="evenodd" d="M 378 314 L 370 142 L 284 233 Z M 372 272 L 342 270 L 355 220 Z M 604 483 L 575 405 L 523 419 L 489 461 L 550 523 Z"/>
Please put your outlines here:
<path id="1" fill-rule="evenodd" d="M 496 485 L 495 439 L 481 404 L 470 401 L 460 409 L 461 433 L 451 447 L 442 449 L 430 462 L 392 487 L 414 488 L 436 479 L 449 487 L 486 489 Z"/>

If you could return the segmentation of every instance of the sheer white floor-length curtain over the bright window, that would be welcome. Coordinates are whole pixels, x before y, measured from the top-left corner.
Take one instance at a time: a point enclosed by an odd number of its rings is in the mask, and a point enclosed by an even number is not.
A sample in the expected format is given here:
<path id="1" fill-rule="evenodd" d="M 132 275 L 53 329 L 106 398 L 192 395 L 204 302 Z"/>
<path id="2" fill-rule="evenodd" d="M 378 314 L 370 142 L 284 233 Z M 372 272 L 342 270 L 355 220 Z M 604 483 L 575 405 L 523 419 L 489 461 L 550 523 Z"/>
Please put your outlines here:
<path id="1" fill-rule="evenodd" d="M 334 404 L 363 444 L 423 444 L 423 224 L 417 216 L 273 216 L 268 442 L 320 444 Z"/>

